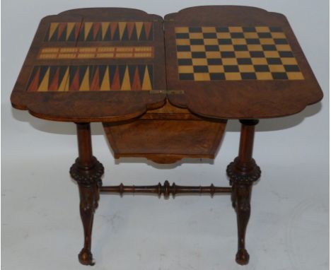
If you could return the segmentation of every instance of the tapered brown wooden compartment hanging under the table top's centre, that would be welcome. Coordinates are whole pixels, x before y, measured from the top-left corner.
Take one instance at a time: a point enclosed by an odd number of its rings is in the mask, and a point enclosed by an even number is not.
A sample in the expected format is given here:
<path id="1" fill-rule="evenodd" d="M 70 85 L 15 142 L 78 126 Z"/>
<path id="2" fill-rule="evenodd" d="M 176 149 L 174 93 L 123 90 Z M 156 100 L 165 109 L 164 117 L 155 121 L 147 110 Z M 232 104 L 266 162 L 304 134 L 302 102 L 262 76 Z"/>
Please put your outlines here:
<path id="1" fill-rule="evenodd" d="M 214 158 L 226 120 L 210 120 L 166 104 L 136 120 L 103 123 L 115 158 L 144 157 L 156 163 Z"/>

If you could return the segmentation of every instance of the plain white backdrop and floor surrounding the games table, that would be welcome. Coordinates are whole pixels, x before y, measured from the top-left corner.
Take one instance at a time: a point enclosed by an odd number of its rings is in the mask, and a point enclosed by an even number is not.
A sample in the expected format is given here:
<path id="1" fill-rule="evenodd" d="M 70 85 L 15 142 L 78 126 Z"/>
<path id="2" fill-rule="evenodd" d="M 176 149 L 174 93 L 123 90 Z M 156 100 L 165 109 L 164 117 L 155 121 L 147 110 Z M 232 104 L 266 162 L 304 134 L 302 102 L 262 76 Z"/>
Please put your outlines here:
<path id="1" fill-rule="evenodd" d="M 77 260 L 83 232 L 69 166 L 77 155 L 74 124 L 47 122 L 11 108 L 9 96 L 40 19 L 71 8 L 122 6 L 164 16 L 188 6 L 238 4 L 284 13 L 325 98 L 291 117 L 262 120 L 254 157 L 262 169 L 248 225 L 245 269 L 328 269 L 329 1 L 5 0 L 2 7 L 2 266 L 86 269 Z M 104 184 L 228 184 L 240 126 L 228 122 L 214 164 L 177 166 L 143 159 L 115 162 L 100 124 L 93 150 Z M 228 196 L 101 196 L 95 214 L 94 269 L 243 269 L 234 262 L 236 216 Z"/>

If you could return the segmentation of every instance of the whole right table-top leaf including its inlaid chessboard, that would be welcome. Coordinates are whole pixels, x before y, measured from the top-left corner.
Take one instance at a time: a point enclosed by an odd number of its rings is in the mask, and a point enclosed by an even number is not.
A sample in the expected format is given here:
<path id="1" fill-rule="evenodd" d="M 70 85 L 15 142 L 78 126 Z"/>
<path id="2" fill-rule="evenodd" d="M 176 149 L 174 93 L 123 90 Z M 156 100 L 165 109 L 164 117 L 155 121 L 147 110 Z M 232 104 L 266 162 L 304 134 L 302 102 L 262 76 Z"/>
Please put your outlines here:
<path id="1" fill-rule="evenodd" d="M 165 16 L 170 102 L 204 117 L 260 119 L 323 98 L 285 16 L 248 6 L 198 6 Z"/>

